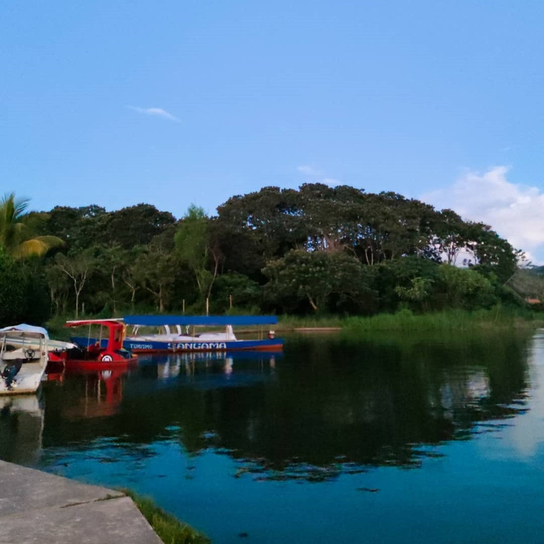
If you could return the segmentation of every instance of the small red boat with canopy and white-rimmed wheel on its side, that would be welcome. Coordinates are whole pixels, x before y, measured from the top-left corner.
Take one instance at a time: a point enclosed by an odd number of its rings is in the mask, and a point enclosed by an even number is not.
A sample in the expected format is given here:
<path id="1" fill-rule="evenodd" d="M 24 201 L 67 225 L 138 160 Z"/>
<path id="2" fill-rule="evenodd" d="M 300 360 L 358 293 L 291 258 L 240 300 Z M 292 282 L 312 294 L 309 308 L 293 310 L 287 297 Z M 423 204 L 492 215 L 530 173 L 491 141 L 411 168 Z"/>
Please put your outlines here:
<path id="1" fill-rule="evenodd" d="M 72 370 L 127 369 L 138 364 L 138 357 L 123 348 L 125 324 L 115 319 L 84 319 L 68 321 L 66 327 L 89 325 L 88 342 L 63 352 L 64 365 Z M 91 342 L 91 326 L 100 326 L 100 339 Z M 103 327 L 107 329 L 107 344 L 102 347 Z M 104 335 L 106 336 L 106 335 Z"/>

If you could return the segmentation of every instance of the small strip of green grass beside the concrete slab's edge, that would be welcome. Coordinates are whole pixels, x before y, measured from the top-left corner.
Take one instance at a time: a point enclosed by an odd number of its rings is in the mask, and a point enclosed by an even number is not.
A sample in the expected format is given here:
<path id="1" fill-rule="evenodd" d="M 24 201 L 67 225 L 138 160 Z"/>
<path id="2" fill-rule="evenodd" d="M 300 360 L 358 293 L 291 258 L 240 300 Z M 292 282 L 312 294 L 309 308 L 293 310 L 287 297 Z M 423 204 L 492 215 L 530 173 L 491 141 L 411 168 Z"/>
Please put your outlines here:
<path id="1" fill-rule="evenodd" d="M 164 544 L 210 544 L 207 536 L 199 533 L 187 523 L 182 523 L 176 517 L 160 509 L 152 499 L 141 497 L 133 491 L 123 489 L 144 515 L 153 530 L 159 535 Z"/>

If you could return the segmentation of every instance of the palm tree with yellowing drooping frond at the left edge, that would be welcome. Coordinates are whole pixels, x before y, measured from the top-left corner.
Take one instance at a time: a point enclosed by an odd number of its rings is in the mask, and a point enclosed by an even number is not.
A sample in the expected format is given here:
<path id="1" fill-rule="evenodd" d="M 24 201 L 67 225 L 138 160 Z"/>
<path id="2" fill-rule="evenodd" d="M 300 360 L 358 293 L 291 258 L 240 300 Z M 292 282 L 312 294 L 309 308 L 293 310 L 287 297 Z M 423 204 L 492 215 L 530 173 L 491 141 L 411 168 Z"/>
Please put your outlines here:
<path id="1" fill-rule="evenodd" d="M 15 193 L 0 200 L 0 247 L 16 259 L 44 255 L 64 244 L 56 236 L 33 236 L 39 214 L 28 213 L 28 199 L 16 199 Z"/>

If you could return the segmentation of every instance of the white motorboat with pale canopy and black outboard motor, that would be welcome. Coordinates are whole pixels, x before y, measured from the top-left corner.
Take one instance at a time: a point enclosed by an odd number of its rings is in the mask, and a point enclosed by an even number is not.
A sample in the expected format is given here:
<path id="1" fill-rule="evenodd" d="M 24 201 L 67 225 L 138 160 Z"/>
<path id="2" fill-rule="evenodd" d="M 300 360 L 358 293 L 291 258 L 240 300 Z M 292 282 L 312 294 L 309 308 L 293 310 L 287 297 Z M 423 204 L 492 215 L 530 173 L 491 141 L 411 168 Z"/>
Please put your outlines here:
<path id="1" fill-rule="evenodd" d="M 48 361 L 48 339 L 43 327 L 0 329 L 0 395 L 38 391 Z"/>

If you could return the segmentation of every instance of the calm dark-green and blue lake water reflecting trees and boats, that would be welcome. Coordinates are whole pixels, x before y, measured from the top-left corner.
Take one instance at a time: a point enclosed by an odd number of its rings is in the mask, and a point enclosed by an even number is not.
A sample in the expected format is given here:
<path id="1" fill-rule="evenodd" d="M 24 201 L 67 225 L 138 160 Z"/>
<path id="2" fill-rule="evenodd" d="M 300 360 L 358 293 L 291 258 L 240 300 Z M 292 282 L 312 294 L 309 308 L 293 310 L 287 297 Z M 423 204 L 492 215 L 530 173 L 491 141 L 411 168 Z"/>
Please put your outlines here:
<path id="1" fill-rule="evenodd" d="M 537 542 L 543 382 L 544 333 L 146 357 L 0 400 L 0 458 L 131 487 L 216 544 Z"/>

